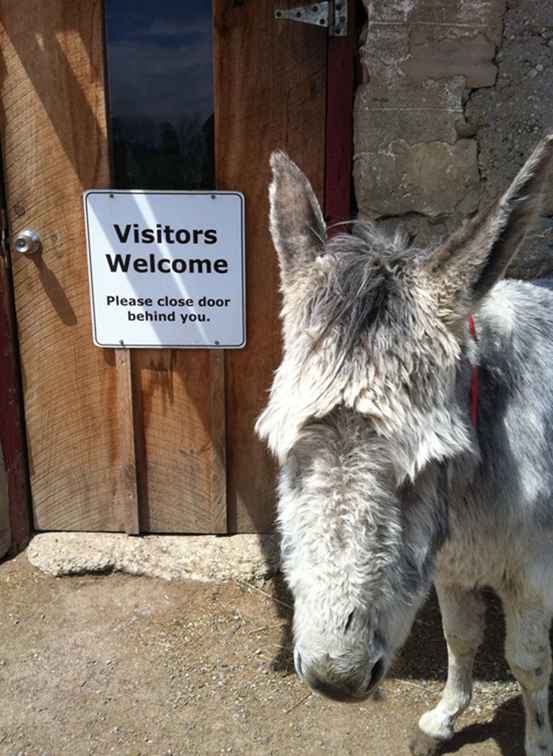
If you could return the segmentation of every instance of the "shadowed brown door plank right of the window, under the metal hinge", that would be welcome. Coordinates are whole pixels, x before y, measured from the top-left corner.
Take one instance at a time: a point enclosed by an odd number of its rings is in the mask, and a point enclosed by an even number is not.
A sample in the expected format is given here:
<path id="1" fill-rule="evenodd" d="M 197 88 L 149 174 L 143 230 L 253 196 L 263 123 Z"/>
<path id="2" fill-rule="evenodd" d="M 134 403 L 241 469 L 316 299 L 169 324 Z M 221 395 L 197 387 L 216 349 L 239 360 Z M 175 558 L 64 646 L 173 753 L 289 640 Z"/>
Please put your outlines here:
<path id="1" fill-rule="evenodd" d="M 324 187 L 326 30 L 276 21 L 274 7 L 272 0 L 214 0 L 217 184 L 246 196 L 248 343 L 225 355 L 234 532 L 267 531 L 273 519 L 274 468 L 253 430 L 280 359 L 279 279 L 268 232 L 270 152 L 287 150 L 319 198 Z"/>

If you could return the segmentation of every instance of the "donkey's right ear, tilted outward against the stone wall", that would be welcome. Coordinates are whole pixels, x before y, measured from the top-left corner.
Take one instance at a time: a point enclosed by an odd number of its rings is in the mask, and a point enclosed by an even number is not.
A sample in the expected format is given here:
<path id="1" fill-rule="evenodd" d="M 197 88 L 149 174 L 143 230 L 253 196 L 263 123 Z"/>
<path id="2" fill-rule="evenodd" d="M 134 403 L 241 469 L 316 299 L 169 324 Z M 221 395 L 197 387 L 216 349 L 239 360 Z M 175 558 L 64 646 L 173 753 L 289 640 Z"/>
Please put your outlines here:
<path id="1" fill-rule="evenodd" d="M 504 274 L 540 212 L 552 155 L 549 134 L 488 214 L 470 221 L 430 256 L 427 269 L 446 322 L 473 312 Z"/>

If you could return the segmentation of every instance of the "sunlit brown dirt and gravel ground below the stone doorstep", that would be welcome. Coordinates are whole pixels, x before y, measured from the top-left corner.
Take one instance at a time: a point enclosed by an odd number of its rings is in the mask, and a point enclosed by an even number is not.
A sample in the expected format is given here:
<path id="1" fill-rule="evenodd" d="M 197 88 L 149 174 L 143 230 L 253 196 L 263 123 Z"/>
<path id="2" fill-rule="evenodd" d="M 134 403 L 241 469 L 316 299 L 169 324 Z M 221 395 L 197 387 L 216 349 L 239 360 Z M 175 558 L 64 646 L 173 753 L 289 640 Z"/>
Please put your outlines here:
<path id="1" fill-rule="evenodd" d="M 378 698 L 349 705 L 294 676 L 288 602 L 277 582 L 51 578 L 24 555 L 1 564 L 0 754 L 406 754 L 445 675 L 435 602 Z M 494 603 L 488 624 L 474 704 L 444 753 L 523 754 Z"/>

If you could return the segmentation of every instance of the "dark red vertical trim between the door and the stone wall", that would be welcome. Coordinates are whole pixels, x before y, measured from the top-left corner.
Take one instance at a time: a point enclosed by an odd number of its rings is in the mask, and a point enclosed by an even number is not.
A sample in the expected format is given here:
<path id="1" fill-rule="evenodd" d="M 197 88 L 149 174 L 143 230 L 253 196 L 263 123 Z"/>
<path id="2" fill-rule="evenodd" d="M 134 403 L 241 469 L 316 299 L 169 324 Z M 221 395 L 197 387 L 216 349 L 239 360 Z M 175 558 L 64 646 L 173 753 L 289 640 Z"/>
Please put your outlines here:
<path id="1" fill-rule="evenodd" d="M 349 0 L 347 37 L 328 38 L 325 217 L 327 224 L 350 220 L 353 165 L 355 2 Z M 329 233 L 346 230 L 330 229 Z"/>

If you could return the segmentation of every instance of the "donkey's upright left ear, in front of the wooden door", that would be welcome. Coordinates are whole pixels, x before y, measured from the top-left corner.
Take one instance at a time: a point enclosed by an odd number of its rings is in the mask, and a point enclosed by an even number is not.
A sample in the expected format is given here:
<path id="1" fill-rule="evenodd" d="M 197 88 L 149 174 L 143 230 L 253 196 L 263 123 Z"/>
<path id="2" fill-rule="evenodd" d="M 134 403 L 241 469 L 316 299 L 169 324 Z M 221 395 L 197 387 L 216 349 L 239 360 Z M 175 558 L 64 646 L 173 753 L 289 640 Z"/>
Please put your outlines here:
<path id="1" fill-rule="evenodd" d="M 270 223 L 283 283 L 309 266 L 324 247 L 321 207 L 311 184 L 284 152 L 271 155 Z"/>

